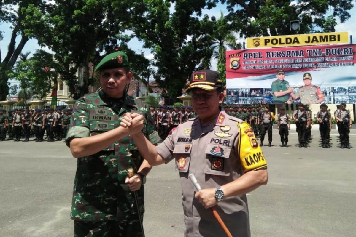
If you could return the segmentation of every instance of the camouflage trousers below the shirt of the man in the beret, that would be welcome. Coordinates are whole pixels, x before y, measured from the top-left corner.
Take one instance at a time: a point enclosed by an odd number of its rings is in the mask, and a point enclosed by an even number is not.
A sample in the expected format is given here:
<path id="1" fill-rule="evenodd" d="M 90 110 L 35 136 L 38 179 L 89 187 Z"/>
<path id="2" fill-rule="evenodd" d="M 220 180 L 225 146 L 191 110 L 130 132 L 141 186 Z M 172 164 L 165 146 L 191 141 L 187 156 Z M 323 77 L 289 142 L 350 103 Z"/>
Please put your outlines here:
<path id="1" fill-rule="evenodd" d="M 74 221 L 74 237 L 141 237 L 137 219 L 125 221 Z"/>

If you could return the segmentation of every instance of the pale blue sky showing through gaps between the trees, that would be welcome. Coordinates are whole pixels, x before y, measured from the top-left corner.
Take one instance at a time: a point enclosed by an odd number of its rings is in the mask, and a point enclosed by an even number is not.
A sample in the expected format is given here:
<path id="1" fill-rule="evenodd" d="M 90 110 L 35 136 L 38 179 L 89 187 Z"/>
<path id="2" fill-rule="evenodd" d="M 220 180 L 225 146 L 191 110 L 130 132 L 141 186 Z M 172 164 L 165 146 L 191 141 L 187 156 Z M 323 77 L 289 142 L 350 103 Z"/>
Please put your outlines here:
<path id="1" fill-rule="evenodd" d="M 174 5 L 171 6 L 171 11 L 174 11 Z M 220 16 L 220 11 L 223 11 L 224 15 L 226 15 L 227 9 L 225 5 L 219 4 L 217 7 L 211 10 L 203 10 L 203 15 L 208 14 L 209 16 L 215 16 L 218 18 Z M 351 18 L 346 21 L 345 23 L 339 24 L 336 26 L 336 32 L 340 31 L 348 31 L 349 35 L 352 35 L 354 37 L 353 42 L 356 43 L 356 27 L 354 25 L 354 22 L 356 22 L 356 8 L 354 7 L 351 11 Z M 0 31 L 2 31 L 4 39 L 0 41 L 0 48 L 1 48 L 1 58 L 4 59 L 6 53 L 7 53 L 7 46 L 9 45 L 10 42 L 10 37 L 11 37 L 11 29 L 10 25 L 3 23 L 0 24 Z M 20 37 L 17 37 L 17 41 L 20 40 Z M 242 43 L 244 39 L 240 39 L 240 42 Z M 138 50 L 143 50 L 146 58 L 151 59 L 153 57 L 153 54 L 151 54 L 149 49 L 143 49 L 142 48 L 142 43 L 137 40 L 137 38 L 133 38 L 131 42 L 129 42 L 129 46 L 138 52 Z M 30 39 L 25 47 L 22 50 L 22 53 L 30 51 L 31 53 L 34 53 L 36 49 L 40 49 L 41 47 L 37 44 L 36 39 Z M 46 50 L 46 48 L 43 48 Z M 48 50 L 48 49 L 47 49 Z M 216 69 L 216 62 L 213 60 L 211 62 L 212 69 Z"/>

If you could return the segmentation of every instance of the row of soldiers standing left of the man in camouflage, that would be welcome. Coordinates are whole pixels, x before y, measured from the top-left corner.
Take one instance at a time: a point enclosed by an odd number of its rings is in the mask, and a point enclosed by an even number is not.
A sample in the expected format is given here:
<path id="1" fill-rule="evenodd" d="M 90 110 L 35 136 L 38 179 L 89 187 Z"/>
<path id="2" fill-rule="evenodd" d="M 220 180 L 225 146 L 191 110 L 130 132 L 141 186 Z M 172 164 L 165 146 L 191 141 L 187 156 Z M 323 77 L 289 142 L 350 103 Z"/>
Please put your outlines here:
<path id="1" fill-rule="evenodd" d="M 67 134 L 70 124 L 72 109 L 63 109 L 57 107 L 31 110 L 29 107 L 25 109 L 14 109 L 6 111 L 0 110 L 0 141 L 7 140 L 20 141 L 23 136 L 23 141 L 30 141 L 31 135 L 34 135 L 35 141 L 43 141 L 43 136 L 46 133 L 47 141 L 62 140 Z"/>

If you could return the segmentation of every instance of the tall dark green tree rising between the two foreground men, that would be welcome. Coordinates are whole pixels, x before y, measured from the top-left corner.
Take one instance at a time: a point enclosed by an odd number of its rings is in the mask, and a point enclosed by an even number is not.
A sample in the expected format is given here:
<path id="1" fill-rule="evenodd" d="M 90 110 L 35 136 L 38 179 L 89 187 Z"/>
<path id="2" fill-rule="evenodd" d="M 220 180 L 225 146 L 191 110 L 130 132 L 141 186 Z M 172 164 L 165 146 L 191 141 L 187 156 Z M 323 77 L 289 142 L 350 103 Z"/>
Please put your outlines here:
<path id="1" fill-rule="evenodd" d="M 171 2 L 175 3 L 173 13 Z M 201 16 L 201 10 L 214 6 L 210 0 L 143 0 L 132 15 L 132 30 L 155 55 L 153 76 L 168 91 L 166 96 L 181 95 L 190 74 L 206 65 L 203 60 L 209 53 L 213 22 L 208 15 Z"/>

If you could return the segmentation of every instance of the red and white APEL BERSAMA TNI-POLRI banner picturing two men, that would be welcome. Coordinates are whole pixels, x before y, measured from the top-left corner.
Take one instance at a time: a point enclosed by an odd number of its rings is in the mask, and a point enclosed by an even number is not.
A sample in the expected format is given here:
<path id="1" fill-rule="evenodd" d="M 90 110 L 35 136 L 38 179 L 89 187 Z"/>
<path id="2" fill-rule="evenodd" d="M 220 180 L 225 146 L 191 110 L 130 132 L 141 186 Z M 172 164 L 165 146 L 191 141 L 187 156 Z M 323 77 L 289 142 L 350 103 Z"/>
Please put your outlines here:
<path id="1" fill-rule="evenodd" d="M 307 41 L 314 36 L 306 37 Z M 264 37 L 260 38 L 261 43 Z M 266 97 L 273 97 L 275 104 L 321 104 L 330 101 L 326 97 L 348 97 L 349 91 L 356 96 L 355 53 L 356 44 L 345 43 L 228 50 L 226 87 L 238 88 L 239 97 L 259 97 L 262 92 L 267 101 Z M 239 66 L 232 65 L 235 61 Z M 246 88 L 250 88 L 249 95 Z"/>

